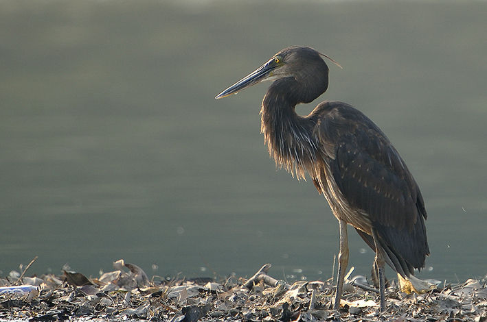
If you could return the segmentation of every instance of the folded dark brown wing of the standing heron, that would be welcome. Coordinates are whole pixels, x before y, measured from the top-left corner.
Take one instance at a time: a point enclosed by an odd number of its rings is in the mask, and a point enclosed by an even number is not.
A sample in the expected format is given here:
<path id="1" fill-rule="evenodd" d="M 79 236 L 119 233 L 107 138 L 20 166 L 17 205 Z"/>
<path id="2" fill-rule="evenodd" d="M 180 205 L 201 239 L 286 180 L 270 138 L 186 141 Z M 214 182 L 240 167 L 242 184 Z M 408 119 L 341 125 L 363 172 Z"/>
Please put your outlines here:
<path id="1" fill-rule="evenodd" d="M 387 136 L 346 103 L 326 102 L 314 112 L 317 137 L 348 205 L 369 215 L 381 243 L 396 256 L 424 267 L 429 254 L 424 201 Z"/>

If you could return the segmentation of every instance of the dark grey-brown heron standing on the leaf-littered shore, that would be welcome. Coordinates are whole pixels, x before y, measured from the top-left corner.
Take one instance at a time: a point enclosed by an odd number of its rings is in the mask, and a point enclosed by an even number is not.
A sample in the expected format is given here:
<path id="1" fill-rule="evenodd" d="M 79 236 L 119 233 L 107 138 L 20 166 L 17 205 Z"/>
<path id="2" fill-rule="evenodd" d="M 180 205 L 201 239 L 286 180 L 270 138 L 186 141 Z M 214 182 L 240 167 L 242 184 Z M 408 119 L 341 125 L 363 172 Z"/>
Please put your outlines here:
<path id="1" fill-rule="evenodd" d="M 216 99 L 272 80 L 262 100 L 261 132 L 269 155 L 293 177 L 313 180 L 339 221 L 338 310 L 349 259 L 347 226 L 375 252 L 381 312 L 385 263 L 414 282 L 429 256 L 426 208 L 413 175 L 387 136 L 365 114 L 341 101 L 319 103 L 307 116 L 295 112 L 328 88 L 328 55 L 313 48 L 282 49 Z M 338 64 L 337 62 L 335 62 Z"/>

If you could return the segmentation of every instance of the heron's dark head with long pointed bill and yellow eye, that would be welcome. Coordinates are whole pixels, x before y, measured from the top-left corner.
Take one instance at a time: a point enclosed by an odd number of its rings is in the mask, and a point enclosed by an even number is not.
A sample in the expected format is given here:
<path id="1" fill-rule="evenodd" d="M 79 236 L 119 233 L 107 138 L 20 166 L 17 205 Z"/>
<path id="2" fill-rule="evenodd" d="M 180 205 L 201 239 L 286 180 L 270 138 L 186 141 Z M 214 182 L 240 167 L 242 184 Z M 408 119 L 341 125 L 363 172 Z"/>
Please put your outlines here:
<path id="1" fill-rule="evenodd" d="M 327 55 L 319 53 L 310 47 L 293 46 L 284 48 L 273 55 L 267 62 L 264 62 L 258 69 L 223 90 L 223 92 L 220 92 L 215 98 L 221 99 L 236 94 L 240 90 L 265 80 L 294 77 L 297 81 L 302 81 L 315 73 L 319 73 L 320 70 L 326 72 L 326 85 L 328 86 L 328 66 L 321 56 L 335 62 Z M 337 62 L 335 64 L 340 66 Z"/>

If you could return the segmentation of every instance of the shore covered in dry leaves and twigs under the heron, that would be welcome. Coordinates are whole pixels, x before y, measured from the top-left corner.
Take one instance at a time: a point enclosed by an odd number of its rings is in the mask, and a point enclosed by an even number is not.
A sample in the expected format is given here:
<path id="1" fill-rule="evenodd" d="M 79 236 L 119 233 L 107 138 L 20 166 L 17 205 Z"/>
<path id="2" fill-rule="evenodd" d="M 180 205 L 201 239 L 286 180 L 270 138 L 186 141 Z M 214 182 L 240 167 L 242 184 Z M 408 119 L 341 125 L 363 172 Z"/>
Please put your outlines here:
<path id="1" fill-rule="evenodd" d="M 402 293 L 393 282 L 387 310 L 379 314 L 378 295 L 363 277 L 346 280 L 337 311 L 330 309 L 332 280 L 288 284 L 268 275 L 270 264 L 248 280 L 149 279 L 123 260 L 113 267 L 98 278 L 11 272 L 0 286 L 35 287 L 0 288 L 0 321 L 487 321 L 487 278 L 438 285 L 423 295 Z"/>

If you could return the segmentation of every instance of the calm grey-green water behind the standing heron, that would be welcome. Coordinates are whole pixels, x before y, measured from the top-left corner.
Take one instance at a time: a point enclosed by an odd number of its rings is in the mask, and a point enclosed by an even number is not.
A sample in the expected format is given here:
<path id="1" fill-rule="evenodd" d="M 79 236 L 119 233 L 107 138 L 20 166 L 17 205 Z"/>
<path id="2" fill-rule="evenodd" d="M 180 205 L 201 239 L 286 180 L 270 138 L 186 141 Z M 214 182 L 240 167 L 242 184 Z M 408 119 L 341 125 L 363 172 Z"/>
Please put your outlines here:
<path id="1" fill-rule="evenodd" d="M 338 223 L 260 136 L 267 84 L 214 96 L 288 45 L 330 65 L 319 98 L 389 136 L 422 188 L 422 277 L 487 273 L 487 3 L 2 1 L 0 271 L 326 279 Z M 297 109 L 307 114 L 316 102 Z M 350 230 L 350 264 L 373 252 Z M 391 275 L 389 271 L 389 275 Z"/>

